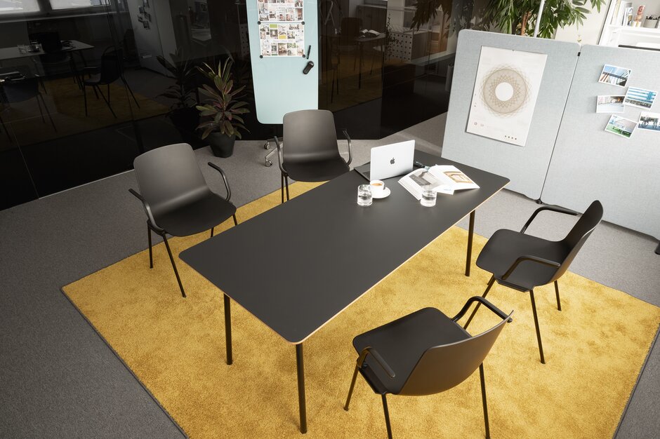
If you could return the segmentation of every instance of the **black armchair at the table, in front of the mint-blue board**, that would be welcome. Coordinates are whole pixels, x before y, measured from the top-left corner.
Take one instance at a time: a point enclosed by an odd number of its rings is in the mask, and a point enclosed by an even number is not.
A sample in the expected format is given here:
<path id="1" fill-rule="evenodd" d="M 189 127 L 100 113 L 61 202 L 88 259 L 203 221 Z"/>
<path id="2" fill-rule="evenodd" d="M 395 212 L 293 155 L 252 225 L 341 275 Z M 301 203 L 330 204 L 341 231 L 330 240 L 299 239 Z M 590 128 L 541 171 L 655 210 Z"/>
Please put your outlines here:
<path id="1" fill-rule="evenodd" d="M 348 140 L 348 162 L 339 154 L 334 116 L 328 110 L 301 110 L 284 114 L 283 143 L 277 145 L 277 161 L 282 171 L 282 203 L 284 187 L 289 200 L 289 177 L 298 182 L 325 182 L 348 173 L 352 160 L 350 137 Z"/>

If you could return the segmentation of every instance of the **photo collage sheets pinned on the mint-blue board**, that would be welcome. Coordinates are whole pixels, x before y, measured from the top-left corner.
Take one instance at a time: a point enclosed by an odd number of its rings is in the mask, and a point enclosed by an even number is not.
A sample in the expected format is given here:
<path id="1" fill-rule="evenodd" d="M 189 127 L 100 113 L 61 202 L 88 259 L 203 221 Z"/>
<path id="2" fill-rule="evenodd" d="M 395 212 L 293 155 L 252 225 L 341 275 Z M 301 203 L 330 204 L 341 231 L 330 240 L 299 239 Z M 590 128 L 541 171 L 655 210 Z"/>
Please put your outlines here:
<path id="1" fill-rule="evenodd" d="M 305 55 L 303 0 L 257 0 L 261 56 Z"/>

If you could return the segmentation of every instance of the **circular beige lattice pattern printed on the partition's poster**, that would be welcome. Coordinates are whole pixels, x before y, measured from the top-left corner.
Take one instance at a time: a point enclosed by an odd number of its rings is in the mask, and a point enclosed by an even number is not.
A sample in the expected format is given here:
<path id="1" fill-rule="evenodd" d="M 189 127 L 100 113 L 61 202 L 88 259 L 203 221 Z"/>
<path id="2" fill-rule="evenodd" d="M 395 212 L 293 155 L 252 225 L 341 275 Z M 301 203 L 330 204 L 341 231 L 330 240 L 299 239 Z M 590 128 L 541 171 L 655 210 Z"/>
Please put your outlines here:
<path id="1" fill-rule="evenodd" d="M 510 66 L 491 70 L 482 83 L 482 99 L 486 107 L 499 116 L 511 116 L 527 102 L 529 86 L 522 72 Z"/>

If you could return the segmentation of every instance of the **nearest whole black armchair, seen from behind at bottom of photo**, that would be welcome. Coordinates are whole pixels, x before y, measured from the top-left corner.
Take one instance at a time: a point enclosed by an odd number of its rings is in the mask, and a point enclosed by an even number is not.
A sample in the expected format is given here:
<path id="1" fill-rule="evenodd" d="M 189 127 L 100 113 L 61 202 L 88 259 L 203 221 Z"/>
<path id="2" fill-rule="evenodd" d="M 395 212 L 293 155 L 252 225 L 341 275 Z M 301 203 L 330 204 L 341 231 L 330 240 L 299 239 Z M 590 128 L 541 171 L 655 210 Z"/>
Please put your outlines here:
<path id="1" fill-rule="evenodd" d="M 484 304 L 502 321 L 480 335 L 472 336 L 456 323 L 473 302 Z M 486 437 L 490 437 L 484 358 L 499 336 L 504 323 L 510 322 L 496 306 L 482 297 L 470 297 L 456 316 L 449 318 L 435 308 L 424 308 L 394 320 L 353 339 L 359 353 L 344 410 L 348 410 L 357 372 L 371 389 L 381 395 L 388 438 L 392 426 L 387 394 L 421 396 L 449 390 L 479 367 Z"/>

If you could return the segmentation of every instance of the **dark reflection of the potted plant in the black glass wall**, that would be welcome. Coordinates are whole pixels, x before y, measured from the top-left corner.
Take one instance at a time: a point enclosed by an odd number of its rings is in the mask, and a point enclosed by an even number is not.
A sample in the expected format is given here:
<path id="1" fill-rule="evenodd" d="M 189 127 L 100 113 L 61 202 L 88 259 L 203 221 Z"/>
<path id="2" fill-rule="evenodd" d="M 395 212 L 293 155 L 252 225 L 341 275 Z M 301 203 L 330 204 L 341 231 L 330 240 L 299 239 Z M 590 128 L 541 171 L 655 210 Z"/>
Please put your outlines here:
<path id="1" fill-rule="evenodd" d="M 194 104 L 197 102 L 194 99 L 194 92 L 197 88 L 195 86 L 194 66 L 190 65 L 187 60 L 182 60 L 184 57 L 178 50 L 176 53 L 170 54 L 173 63 L 160 55 L 156 58 L 175 80 L 175 83 L 160 95 L 173 100 L 167 117 L 183 137 L 183 140 L 194 145 L 199 142 L 194 133 L 199 124 L 199 112 L 194 108 Z"/>

